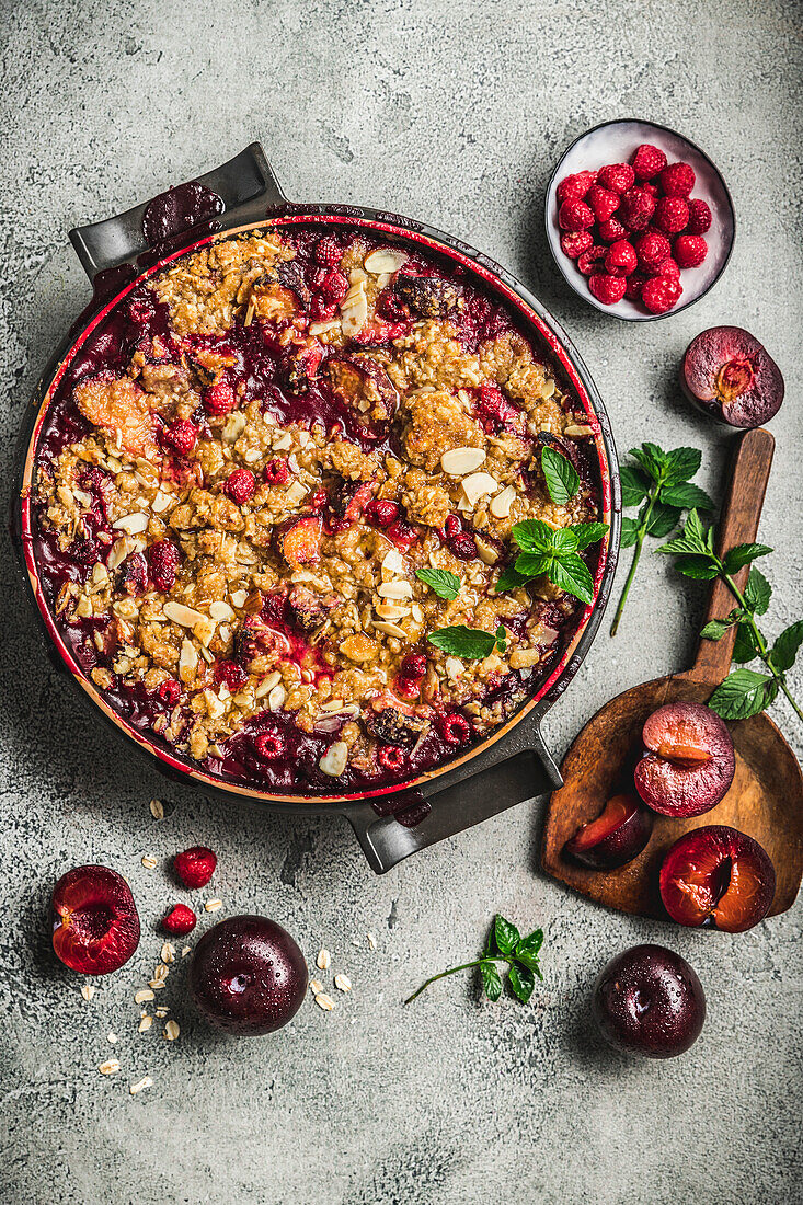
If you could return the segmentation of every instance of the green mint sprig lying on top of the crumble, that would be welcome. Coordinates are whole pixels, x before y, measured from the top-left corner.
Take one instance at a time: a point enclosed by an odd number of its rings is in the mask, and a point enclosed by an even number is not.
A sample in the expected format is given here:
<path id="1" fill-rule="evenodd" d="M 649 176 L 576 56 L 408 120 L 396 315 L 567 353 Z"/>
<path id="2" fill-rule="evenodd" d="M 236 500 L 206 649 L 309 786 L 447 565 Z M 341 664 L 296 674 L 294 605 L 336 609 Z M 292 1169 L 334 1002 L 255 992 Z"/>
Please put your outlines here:
<path id="1" fill-rule="evenodd" d="M 606 523 L 575 523 L 557 530 L 541 519 L 514 524 L 512 537 L 521 553 L 499 575 L 497 594 L 545 575 L 558 589 L 573 594 L 581 602 L 593 601 L 594 583 L 579 553 L 602 540 L 606 530 Z"/>

